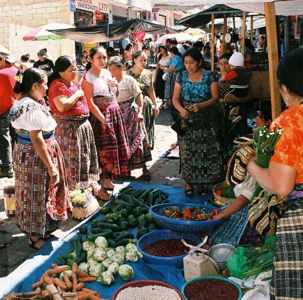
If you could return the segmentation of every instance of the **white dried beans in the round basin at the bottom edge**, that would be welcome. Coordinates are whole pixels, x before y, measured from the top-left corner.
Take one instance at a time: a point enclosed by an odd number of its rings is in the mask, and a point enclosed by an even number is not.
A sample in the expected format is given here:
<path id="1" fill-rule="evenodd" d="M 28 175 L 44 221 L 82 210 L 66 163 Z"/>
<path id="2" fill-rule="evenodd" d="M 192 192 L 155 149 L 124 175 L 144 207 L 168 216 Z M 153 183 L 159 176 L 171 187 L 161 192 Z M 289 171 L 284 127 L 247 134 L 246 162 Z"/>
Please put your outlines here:
<path id="1" fill-rule="evenodd" d="M 146 285 L 142 287 L 127 287 L 122 289 L 116 300 L 181 300 L 179 294 L 172 288 L 161 285 Z"/>

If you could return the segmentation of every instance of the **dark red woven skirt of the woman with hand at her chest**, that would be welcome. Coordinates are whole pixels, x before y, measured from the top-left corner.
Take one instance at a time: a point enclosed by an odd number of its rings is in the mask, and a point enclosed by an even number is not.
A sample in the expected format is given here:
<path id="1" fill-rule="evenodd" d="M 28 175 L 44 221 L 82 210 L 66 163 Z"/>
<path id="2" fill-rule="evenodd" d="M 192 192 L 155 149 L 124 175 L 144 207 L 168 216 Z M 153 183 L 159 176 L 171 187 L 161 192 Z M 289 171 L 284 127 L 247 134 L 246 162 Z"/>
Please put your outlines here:
<path id="1" fill-rule="evenodd" d="M 123 115 L 114 97 L 95 96 L 94 103 L 105 116 L 106 126 L 92 116 L 100 177 L 111 179 L 130 175 L 130 150 Z"/>

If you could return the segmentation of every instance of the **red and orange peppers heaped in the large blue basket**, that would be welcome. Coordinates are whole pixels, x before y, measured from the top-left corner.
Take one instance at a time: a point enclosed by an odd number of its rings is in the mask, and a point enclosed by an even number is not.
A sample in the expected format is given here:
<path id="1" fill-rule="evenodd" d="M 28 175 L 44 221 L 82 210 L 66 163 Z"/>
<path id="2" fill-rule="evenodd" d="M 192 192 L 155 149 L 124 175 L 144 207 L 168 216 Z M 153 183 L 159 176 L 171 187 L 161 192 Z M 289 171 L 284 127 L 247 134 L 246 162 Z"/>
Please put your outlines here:
<path id="1" fill-rule="evenodd" d="M 213 216 L 218 213 L 220 213 L 219 209 L 206 213 L 205 209 L 201 209 L 199 206 L 185 207 L 183 210 L 177 206 L 171 206 L 170 208 L 165 207 L 163 210 L 164 217 L 183 221 L 211 221 Z"/>

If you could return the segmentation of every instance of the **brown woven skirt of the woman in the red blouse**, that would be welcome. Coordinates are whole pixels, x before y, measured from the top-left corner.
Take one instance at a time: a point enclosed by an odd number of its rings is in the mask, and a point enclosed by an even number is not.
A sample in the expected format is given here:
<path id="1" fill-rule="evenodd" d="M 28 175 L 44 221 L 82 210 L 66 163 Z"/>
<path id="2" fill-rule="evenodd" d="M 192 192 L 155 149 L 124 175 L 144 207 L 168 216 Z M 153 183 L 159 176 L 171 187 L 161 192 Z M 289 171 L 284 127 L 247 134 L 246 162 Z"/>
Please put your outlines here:
<path id="1" fill-rule="evenodd" d="M 55 138 L 69 174 L 69 189 L 74 190 L 80 182 L 99 181 L 97 150 L 88 115 L 55 117 Z"/>

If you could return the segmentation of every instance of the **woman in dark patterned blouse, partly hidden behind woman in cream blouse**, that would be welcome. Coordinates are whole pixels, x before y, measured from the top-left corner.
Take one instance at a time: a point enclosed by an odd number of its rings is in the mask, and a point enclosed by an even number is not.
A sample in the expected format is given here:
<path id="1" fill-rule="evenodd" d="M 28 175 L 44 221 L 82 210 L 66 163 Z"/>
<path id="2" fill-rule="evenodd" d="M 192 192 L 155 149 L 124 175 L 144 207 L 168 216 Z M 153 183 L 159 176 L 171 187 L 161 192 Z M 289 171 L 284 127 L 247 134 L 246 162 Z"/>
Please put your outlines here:
<path id="1" fill-rule="evenodd" d="M 134 67 L 127 74 L 133 77 L 140 85 L 143 95 L 143 117 L 150 149 L 155 143 L 155 116 L 159 115 L 156 95 L 153 86 L 153 75 L 145 69 L 147 56 L 142 51 L 137 51 L 133 56 Z M 154 106 L 153 106 L 154 104 Z M 147 174 L 148 175 L 148 174 Z M 146 176 L 147 178 L 148 176 Z M 150 179 L 149 179 L 150 180 Z"/>

